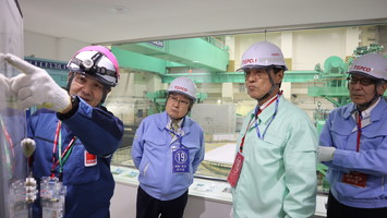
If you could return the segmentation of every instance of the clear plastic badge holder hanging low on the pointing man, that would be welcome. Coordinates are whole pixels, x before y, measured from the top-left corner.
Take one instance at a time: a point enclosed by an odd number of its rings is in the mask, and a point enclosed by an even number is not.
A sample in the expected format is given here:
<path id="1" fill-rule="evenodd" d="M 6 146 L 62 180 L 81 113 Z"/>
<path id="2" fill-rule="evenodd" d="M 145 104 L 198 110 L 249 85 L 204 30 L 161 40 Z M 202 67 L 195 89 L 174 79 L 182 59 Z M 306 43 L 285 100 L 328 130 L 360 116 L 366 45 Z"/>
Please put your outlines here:
<path id="1" fill-rule="evenodd" d="M 66 187 L 58 178 L 44 177 L 40 181 L 43 218 L 63 218 Z"/>

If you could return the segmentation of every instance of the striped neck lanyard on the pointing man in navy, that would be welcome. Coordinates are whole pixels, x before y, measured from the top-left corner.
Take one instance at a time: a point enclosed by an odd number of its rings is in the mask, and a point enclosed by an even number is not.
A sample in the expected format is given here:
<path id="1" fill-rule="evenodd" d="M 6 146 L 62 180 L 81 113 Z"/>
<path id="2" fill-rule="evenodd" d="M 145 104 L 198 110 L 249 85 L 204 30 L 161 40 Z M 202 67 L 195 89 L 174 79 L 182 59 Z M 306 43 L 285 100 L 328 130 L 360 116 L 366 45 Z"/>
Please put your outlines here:
<path id="1" fill-rule="evenodd" d="M 52 168 L 51 168 L 51 178 L 55 177 L 55 171 L 56 171 L 56 167 L 59 165 L 60 166 L 60 169 L 59 169 L 59 173 L 60 173 L 60 179 L 61 179 L 61 174 L 62 174 L 62 170 L 63 170 L 63 165 L 64 162 L 68 160 L 71 152 L 72 152 L 72 148 L 73 148 L 73 145 L 75 144 L 75 141 L 76 141 L 76 136 L 74 136 L 69 145 L 65 147 L 63 154 L 62 154 L 62 134 L 61 134 L 61 125 L 62 125 L 62 122 L 59 121 L 58 124 L 57 124 L 57 131 L 56 131 L 56 136 L 55 136 L 55 140 L 53 140 L 53 147 L 52 147 Z M 59 145 L 59 146 L 58 146 Z M 57 157 L 56 157 L 56 150 L 57 150 L 57 146 L 58 146 L 58 160 L 57 160 Z"/>

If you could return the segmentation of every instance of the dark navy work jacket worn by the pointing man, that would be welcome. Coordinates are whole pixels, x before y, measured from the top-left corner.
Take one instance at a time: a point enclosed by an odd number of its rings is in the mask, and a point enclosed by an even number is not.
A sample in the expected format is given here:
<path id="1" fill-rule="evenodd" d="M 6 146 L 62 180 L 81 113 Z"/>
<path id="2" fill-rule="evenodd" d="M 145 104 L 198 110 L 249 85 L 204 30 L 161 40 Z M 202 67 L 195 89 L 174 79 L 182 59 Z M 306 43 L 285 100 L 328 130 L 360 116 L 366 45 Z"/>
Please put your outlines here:
<path id="1" fill-rule="evenodd" d="M 28 137 L 36 142 L 32 165 L 37 181 L 50 177 L 52 147 L 59 119 L 55 111 L 37 110 L 28 119 Z M 111 155 L 118 148 L 123 135 L 123 123 L 106 109 L 93 108 L 80 98 L 77 111 L 62 120 L 62 153 L 76 136 L 68 160 L 63 164 L 63 184 L 66 186 L 66 218 L 108 218 L 114 180 L 110 172 Z M 58 149 L 55 155 L 58 160 Z M 97 162 L 87 166 L 85 152 L 96 155 Z M 55 169 L 59 174 L 60 165 Z M 39 201 L 34 207 L 34 218 L 41 217 Z"/>

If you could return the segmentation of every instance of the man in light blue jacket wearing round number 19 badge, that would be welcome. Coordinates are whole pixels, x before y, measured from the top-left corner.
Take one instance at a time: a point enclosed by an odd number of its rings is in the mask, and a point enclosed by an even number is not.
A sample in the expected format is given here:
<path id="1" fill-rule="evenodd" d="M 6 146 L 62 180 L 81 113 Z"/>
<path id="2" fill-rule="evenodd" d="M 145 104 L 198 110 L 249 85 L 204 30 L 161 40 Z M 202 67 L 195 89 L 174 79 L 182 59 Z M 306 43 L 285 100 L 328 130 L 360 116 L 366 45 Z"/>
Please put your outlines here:
<path id="1" fill-rule="evenodd" d="M 204 158 L 202 128 L 186 114 L 196 86 L 178 77 L 169 86 L 166 111 L 145 118 L 132 147 L 140 170 L 137 218 L 182 218 L 193 174 Z"/>

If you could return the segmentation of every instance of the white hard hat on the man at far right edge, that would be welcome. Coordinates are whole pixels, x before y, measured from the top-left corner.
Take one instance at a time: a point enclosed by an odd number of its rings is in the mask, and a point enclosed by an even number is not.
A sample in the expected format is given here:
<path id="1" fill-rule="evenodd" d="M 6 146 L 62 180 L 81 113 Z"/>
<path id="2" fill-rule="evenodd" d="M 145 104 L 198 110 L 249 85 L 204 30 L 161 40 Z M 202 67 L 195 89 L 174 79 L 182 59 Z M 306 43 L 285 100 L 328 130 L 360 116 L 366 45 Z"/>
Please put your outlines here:
<path id="1" fill-rule="evenodd" d="M 387 81 L 387 59 L 378 53 L 366 53 L 356 58 L 348 72 Z"/>

